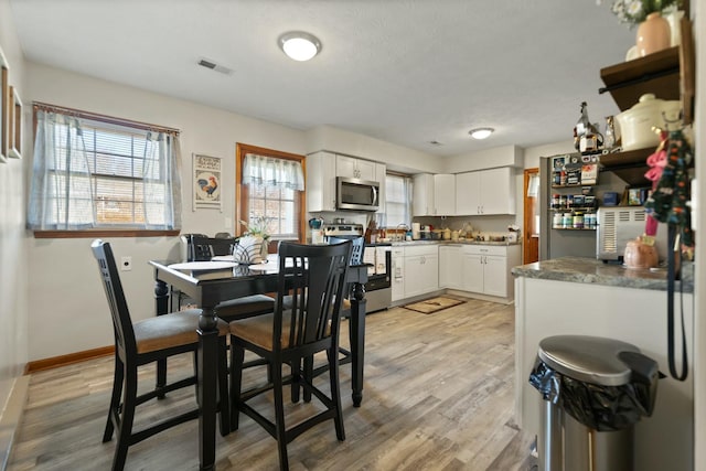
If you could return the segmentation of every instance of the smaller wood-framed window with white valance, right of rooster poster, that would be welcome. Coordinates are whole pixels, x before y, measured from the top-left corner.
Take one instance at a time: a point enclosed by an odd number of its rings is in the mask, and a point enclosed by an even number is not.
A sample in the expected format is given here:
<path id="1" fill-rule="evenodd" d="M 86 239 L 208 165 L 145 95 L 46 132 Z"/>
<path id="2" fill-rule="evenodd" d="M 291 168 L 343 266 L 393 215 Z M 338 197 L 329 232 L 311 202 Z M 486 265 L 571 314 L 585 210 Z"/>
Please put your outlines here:
<path id="1" fill-rule="evenodd" d="M 238 221 L 265 225 L 270 243 L 303 242 L 304 156 L 238 143 L 236 159 Z"/>

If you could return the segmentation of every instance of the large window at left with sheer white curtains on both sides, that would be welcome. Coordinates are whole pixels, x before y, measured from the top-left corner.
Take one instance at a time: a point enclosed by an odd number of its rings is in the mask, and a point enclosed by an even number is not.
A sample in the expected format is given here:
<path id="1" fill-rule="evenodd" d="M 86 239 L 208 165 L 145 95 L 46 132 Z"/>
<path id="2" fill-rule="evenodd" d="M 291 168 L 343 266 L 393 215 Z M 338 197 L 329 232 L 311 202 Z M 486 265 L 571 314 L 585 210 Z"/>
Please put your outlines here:
<path id="1" fill-rule="evenodd" d="M 179 231 L 175 130 L 39 104 L 34 113 L 28 226 L 35 235 Z"/>

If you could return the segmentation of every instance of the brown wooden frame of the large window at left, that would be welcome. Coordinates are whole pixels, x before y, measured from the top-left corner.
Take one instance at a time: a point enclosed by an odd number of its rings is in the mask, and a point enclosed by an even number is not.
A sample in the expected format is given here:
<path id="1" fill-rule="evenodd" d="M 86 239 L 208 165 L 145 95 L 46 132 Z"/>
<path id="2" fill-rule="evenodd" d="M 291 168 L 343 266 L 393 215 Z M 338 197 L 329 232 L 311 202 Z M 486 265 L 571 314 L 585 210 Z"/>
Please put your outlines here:
<path id="1" fill-rule="evenodd" d="M 38 127 L 38 118 L 36 111 L 38 107 L 49 107 L 61 110 L 62 113 L 73 114 L 75 116 L 82 116 L 88 119 L 93 119 L 96 121 L 101 121 L 107 125 L 115 124 L 120 126 L 133 127 L 136 129 L 147 129 L 147 130 L 156 130 L 156 131 L 164 131 L 164 132 L 175 132 L 180 133 L 179 129 L 167 128 L 163 126 L 150 125 L 141 121 L 133 121 L 130 119 L 124 118 L 115 118 L 106 115 L 95 114 L 90 111 L 84 111 L 74 108 L 66 108 L 62 106 L 55 105 L 46 105 L 43 103 L 35 101 L 32 107 L 32 131 L 33 136 L 36 136 L 36 127 Z M 164 236 L 175 236 L 181 233 L 181 229 L 140 229 L 140 228 L 108 228 L 108 227 L 99 227 L 93 229 L 31 229 L 34 238 L 96 238 L 96 237 L 164 237 Z"/>

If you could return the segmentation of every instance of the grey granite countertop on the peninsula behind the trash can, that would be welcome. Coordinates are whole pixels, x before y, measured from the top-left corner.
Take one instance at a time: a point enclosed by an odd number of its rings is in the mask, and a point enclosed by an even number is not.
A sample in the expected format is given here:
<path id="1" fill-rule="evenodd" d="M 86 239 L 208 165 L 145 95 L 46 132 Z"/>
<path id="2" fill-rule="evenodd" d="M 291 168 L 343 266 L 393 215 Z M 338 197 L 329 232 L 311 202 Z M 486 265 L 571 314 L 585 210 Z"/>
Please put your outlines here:
<path id="1" fill-rule="evenodd" d="M 603 264 L 595 258 L 561 257 L 514 267 L 516 277 L 555 281 L 619 286 L 623 288 L 666 290 L 666 268 L 628 269 L 622 265 Z M 684 292 L 694 291 L 694 264 L 684 263 Z M 680 281 L 675 283 L 678 291 Z"/>

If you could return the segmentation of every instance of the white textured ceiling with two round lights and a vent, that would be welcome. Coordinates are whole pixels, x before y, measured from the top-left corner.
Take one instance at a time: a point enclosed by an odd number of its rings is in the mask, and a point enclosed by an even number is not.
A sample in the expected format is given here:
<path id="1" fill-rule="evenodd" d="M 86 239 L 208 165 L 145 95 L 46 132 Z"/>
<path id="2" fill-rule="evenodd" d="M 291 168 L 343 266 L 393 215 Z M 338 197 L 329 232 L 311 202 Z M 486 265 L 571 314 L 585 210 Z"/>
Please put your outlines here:
<path id="1" fill-rule="evenodd" d="M 634 32 L 595 0 L 11 0 L 25 56 L 298 129 L 438 156 L 570 139 L 602 124 L 601 67 Z M 303 30 L 323 49 L 287 58 Z M 207 58 L 233 71 L 200 67 Z M 468 136 L 490 126 L 485 141 Z M 429 141 L 439 141 L 432 146 Z"/>

